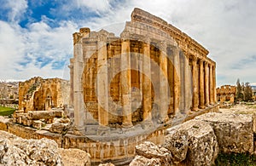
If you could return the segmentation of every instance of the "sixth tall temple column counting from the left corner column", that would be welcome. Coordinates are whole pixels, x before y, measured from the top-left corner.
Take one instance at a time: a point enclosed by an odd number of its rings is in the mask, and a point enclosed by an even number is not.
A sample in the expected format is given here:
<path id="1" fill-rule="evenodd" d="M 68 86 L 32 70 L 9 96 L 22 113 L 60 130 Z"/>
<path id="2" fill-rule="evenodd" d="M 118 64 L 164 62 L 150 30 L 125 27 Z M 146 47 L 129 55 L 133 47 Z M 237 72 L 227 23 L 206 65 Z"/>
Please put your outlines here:
<path id="1" fill-rule="evenodd" d="M 179 111 L 179 99 L 180 99 L 180 63 L 179 63 L 179 49 L 177 47 L 173 48 L 173 111 L 175 114 L 180 114 Z"/>

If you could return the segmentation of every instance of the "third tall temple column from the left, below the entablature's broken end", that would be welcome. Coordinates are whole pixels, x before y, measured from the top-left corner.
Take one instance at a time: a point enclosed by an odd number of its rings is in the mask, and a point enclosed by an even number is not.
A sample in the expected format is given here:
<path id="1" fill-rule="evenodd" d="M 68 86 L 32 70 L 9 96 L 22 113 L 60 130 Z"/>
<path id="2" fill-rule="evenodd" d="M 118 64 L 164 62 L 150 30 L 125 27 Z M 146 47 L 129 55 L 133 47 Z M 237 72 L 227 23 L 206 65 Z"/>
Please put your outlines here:
<path id="1" fill-rule="evenodd" d="M 130 128 L 131 123 L 131 54 L 130 54 L 130 39 L 129 32 L 123 31 L 121 47 L 121 98 L 123 106 L 123 123 L 124 128 Z"/>

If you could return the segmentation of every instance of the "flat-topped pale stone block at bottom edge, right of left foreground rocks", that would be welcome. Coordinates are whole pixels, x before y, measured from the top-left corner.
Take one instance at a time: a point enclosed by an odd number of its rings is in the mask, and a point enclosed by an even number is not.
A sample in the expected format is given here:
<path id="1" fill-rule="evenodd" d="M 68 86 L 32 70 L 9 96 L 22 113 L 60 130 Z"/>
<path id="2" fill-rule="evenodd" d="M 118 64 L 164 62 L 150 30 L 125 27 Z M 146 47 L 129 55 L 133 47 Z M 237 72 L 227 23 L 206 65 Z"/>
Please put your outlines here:
<path id="1" fill-rule="evenodd" d="M 79 149 L 62 149 L 59 148 L 62 163 L 66 166 L 90 166 L 90 154 Z"/>

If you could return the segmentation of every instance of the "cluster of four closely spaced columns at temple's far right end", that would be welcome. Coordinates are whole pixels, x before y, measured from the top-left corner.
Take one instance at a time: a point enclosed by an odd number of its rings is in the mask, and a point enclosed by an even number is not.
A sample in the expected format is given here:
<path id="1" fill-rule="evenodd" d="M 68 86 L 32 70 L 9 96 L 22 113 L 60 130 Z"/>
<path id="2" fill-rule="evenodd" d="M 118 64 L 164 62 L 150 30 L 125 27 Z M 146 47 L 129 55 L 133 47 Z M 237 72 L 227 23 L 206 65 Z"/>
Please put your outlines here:
<path id="1" fill-rule="evenodd" d="M 193 76 L 192 111 L 214 105 L 216 103 L 215 66 L 193 57 L 191 68 Z"/>

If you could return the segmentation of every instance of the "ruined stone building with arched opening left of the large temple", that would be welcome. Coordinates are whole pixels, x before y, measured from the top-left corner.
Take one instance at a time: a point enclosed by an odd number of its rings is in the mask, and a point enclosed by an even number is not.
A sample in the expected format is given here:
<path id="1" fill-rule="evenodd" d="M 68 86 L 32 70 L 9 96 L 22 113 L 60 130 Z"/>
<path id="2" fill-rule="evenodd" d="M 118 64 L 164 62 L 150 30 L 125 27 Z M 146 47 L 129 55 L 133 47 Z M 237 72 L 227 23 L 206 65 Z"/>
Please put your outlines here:
<path id="1" fill-rule="evenodd" d="M 19 83 L 19 110 L 44 111 L 69 102 L 70 83 L 60 78 L 32 77 Z"/>

